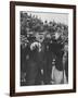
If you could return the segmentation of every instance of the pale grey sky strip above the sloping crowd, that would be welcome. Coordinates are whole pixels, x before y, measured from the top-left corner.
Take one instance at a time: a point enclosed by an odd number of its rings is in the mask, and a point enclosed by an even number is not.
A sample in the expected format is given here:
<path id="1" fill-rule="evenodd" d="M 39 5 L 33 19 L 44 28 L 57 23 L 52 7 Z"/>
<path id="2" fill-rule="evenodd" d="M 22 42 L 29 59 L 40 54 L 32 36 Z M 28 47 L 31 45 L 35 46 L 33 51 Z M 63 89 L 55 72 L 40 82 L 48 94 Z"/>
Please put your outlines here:
<path id="1" fill-rule="evenodd" d="M 55 21 L 56 23 L 64 23 L 68 25 L 68 14 L 66 13 L 52 13 L 52 12 L 28 12 L 28 14 L 37 15 L 39 19 L 41 19 L 43 22 L 47 20 Z"/>

